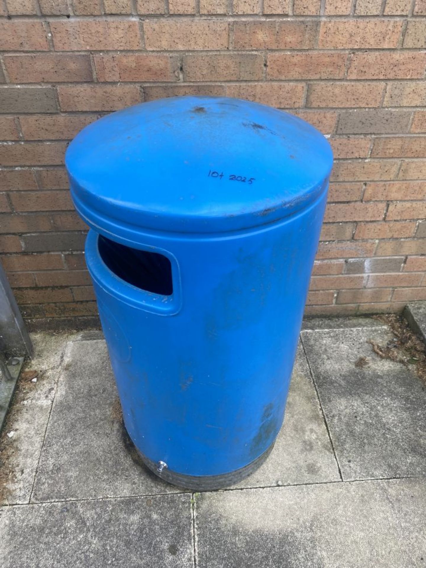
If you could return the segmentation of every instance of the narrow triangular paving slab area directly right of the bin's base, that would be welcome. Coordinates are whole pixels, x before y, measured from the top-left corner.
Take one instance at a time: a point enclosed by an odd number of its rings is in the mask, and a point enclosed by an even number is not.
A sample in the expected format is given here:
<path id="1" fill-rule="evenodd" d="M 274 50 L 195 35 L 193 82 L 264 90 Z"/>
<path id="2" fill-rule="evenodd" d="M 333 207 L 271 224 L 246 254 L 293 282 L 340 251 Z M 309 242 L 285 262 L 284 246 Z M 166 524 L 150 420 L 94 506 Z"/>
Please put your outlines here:
<path id="1" fill-rule="evenodd" d="M 325 427 L 303 348 L 291 377 L 284 424 L 262 466 L 234 487 L 266 487 L 339 481 L 339 468 Z"/>

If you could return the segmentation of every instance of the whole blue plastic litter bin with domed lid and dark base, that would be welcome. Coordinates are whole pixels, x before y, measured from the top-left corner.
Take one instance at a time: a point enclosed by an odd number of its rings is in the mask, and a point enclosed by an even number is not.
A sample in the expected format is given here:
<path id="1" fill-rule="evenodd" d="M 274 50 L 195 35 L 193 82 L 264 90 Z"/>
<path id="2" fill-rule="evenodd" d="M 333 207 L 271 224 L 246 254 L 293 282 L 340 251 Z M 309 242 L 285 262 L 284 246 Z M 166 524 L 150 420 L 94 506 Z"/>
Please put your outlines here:
<path id="1" fill-rule="evenodd" d="M 166 481 L 224 487 L 271 451 L 331 167 L 315 128 L 231 98 L 133 106 L 69 145 L 124 425 Z"/>

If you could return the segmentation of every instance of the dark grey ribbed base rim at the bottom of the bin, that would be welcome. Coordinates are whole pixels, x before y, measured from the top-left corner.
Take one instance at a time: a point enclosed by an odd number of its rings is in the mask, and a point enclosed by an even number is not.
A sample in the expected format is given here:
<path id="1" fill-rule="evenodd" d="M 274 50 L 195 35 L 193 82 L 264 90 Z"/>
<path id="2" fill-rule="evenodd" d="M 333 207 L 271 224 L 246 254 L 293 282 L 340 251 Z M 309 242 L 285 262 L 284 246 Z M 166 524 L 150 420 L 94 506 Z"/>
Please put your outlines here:
<path id="1" fill-rule="evenodd" d="M 132 458 L 142 466 L 148 467 L 150 471 L 171 483 L 172 485 L 177 485 L 178 487 L 185 487 L 186 489 L 193 489 L 197 491 L 214 491 L 215 489 L 222 489 L 224 487 L 229 487 L 230 485 L 235 485 L 235 483 L 241 481 L 245 477 L 248 477 L 254 471 L 256 471 L 262 463 L 266 460 L 269 454 L 272 452 L 275 441 L 265 450 L 256 460 L 248 463 L 246 466 L 241 467 L 235 471 L 229 473 L 224 473 L 222 475 L 184 475 L 181 473 L 176 473 L 171 471 L 168 467 L 162 467 L 161 471 L 158 471 L 158 462 L 153 462 L 147 456 L 144 456 L 133 444 L 131 437 L 128 435 L 126 426 L 123 423 L 123 433 L 128 449 L 130 449 Z M 136 458 L 137 457 L 137 458 Z M 135 459 L 136 458 L 136 459 Z"/>

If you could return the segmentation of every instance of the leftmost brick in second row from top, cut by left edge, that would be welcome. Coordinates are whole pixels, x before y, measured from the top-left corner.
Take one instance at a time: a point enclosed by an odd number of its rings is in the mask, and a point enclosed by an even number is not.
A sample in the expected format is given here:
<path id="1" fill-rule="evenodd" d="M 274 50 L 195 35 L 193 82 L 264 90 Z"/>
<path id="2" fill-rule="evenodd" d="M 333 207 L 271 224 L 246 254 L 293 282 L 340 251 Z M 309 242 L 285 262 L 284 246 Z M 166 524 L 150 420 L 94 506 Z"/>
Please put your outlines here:
<path id="1" fill-rule="evenodd" d="M 47 51 L 46 32 L 39 20 L 0 20 L 0 51 Z"/>

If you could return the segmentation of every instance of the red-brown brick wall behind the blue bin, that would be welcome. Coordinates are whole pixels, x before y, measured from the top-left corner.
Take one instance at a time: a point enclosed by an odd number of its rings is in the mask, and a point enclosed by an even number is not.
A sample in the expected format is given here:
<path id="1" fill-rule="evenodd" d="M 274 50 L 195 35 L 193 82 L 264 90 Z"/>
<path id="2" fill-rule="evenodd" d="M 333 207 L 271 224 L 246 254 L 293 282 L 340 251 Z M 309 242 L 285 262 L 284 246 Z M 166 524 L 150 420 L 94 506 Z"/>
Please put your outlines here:
<path id="1" fill-rule="evenodd" d="M 425 0 L 0 0 L 0 248 L 24 316 L 97 313 L 68 140 L 181 94 L 285 108 L 330 135 L 308 314 L 426 299 L 425 48 Z"/>

